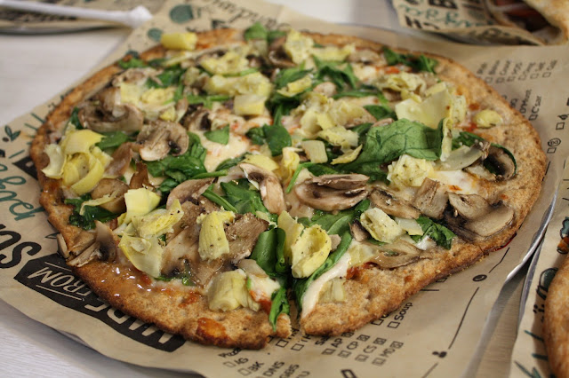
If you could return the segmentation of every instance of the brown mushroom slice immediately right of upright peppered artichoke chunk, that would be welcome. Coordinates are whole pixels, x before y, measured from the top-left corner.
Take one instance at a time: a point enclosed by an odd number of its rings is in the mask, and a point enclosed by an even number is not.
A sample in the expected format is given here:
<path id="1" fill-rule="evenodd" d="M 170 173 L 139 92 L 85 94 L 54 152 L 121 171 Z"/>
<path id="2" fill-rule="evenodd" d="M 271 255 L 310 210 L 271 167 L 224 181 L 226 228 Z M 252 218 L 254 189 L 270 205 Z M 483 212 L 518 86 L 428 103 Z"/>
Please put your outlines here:
<path id="1" fill-rule="evenodd" d="M 231 264 L 251 255 L 252 248 L 255 247 L 260 232 L 267 230 L 268 222 L 251 213 L 243 216 L 237 215 L 235 222 L 229 224 L 225 234 L 229 242 L 229 255 Z"/>

